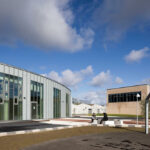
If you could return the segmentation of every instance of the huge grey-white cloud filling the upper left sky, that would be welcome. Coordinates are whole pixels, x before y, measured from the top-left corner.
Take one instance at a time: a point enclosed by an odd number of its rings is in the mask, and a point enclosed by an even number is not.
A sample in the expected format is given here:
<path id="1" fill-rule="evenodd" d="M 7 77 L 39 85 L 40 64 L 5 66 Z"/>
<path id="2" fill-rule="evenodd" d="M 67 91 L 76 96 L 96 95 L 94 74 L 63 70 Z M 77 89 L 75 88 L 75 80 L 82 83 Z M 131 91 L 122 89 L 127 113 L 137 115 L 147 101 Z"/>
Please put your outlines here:
<path id="1" fill-rule="evenodd" d="M 90 47 L 94 32 L 77 32 L 73 22 L 69 0 L 0 0 L 0 43 L 22 41 L 68 52 Z"/>

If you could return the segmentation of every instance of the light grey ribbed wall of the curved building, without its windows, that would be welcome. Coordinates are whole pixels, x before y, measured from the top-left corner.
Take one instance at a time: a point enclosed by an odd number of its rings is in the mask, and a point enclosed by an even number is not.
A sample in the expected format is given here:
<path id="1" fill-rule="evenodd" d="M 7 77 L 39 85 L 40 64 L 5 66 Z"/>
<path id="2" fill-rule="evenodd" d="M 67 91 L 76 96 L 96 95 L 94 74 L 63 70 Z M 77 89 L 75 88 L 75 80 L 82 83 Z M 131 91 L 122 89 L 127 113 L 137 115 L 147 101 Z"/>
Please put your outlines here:
<path id="1" fill-rule="evenodd" d="M 21 77 L 23 79 L 23 120 L 31 119 L 30 83 L 36 81 L 44 86 L 44 118 L 53 118 L 53 88 L 61 90 L 61 117 L 66 117 L 66 93 L 69 94 L 71 116 L 71 91 L 64 85 L 44 76 L 0 63 L 0 72 Z"/>

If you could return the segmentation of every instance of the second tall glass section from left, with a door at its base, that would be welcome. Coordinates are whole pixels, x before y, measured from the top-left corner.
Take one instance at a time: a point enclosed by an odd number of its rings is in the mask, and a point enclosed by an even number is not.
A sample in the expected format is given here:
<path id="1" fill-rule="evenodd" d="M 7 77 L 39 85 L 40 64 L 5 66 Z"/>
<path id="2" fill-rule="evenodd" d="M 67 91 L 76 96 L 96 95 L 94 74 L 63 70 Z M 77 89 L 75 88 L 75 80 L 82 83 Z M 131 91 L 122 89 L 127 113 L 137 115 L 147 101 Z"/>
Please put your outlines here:
<path id="1" fill-rule="evenodd" d="M 43 84 L 31 81 L 31 118 L 43 119 Z"/>

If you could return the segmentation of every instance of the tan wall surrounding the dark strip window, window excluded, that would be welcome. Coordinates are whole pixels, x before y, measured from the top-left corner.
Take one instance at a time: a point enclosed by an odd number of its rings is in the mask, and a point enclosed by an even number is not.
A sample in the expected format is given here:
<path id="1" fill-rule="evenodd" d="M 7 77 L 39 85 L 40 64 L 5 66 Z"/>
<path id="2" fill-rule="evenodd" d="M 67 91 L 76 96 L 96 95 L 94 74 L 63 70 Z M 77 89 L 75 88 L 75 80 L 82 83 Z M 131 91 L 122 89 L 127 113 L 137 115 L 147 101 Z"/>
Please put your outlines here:
<path id="1" fill-rule="evenodd" d="M 141 114 L 140 102 L 138 102 L 138 105 L 137 105 L 137 102 L 115 102 L 115 103 L 108 102 L 109 94 L 138 92 L 138 91 L 141 91 L 141 99 L 145 100 L 146 96 L 150 92 L 150 87 L 149 87 L 149 85 L 138 85 L 138 86 L 123 87 L 123 88 L 107 90 L 106 112 L 108 114 L 133 114 L 133 115 L 136 115 L 136 110 L 138 108 L 138 114 L 140 115 Z"/>

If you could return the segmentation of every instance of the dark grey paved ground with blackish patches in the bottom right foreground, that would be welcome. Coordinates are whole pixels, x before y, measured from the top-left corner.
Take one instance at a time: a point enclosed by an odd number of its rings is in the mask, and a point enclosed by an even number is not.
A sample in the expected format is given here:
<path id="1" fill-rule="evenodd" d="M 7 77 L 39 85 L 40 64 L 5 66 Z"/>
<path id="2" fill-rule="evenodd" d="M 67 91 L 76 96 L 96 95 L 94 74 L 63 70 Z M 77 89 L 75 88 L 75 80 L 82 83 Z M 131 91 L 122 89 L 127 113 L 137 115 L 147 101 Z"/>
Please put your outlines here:
<path id="1" fill-rule="evenodd" d="M 150 150 L 150 134 L 130 131 L 53 140 L 24 150 Z"/>

